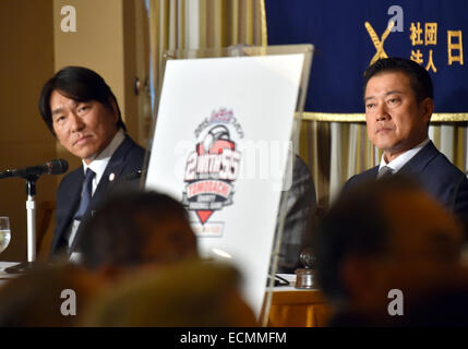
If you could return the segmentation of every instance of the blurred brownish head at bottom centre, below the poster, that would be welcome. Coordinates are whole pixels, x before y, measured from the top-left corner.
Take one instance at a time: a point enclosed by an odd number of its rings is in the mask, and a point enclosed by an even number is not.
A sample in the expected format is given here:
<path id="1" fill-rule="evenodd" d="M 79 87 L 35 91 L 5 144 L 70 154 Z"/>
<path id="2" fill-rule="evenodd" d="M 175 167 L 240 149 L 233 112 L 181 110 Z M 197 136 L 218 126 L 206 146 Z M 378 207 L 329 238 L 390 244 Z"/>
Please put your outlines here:
<path id="1" fill-rule="evenodd" d="M 255 326 L 227 265 L 184 261 L 140 274 L 97 299 L 84 326 Z"/>

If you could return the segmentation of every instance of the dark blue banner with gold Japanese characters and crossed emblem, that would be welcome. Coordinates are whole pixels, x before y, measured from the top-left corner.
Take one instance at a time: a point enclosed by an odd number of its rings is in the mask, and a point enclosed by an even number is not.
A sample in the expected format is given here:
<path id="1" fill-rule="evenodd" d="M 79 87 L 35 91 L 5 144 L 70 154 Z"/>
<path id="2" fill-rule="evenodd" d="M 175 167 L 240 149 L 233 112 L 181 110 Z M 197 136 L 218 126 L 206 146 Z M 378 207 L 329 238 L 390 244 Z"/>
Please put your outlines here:
<path id="1" fill-rule="evenodd" d="M 363 72 L 385 56 L 430 72 L 435 112 L 468 111 L 468 1 L 265 0 L 265 9 L 268 45 L 315 46 L 305 111 L 363 112 Z"/>

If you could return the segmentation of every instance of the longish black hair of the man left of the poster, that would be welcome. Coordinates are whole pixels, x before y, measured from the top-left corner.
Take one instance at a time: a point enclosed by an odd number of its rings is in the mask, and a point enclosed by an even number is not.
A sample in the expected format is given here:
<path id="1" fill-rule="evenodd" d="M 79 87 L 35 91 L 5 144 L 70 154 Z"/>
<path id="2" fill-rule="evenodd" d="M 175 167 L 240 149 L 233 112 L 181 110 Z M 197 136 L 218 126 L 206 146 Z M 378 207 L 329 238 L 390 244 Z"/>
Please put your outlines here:
<path id="1" fill-rule="evenodd" d="M 117 128 L 127 132 L 117 98 L 104 79 L 95 71 L 84 67 L 65 67 L 44 85 L 39 97 L 40 116 L 53 135 L 56 133 L 53 132 L 52 112 L 50 110 L 50 96 L 55 91 L 75 101 L 99 101 L 112 111 L 113 101 L 119 117 Z"/>

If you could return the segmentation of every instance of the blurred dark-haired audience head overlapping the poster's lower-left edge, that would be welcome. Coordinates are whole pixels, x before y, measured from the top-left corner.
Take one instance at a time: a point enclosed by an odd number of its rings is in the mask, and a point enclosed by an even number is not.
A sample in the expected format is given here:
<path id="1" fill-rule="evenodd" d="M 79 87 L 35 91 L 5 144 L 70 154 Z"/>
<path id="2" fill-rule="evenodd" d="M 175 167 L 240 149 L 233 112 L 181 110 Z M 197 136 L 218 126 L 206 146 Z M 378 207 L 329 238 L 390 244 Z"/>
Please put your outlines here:
<path id="1" fill-rule="evenodd" d="M 76 239 L 81 262 L 92 269 L 164 265 L 197 255 L 184 207 L 152 191 L 112 196 Z"/>

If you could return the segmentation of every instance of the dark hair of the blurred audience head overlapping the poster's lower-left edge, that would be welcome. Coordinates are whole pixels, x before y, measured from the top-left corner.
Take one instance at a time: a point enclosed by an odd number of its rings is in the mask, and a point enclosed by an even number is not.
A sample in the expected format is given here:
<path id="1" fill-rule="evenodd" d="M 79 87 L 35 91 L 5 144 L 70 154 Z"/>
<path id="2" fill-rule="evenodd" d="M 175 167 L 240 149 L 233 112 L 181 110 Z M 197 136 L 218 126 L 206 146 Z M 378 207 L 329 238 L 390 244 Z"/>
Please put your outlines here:
<path id="1" fill-rule="evenodd" d="M 169 219 L 184 220 L 190 225 L 185 207 L 169 195 L 143 190 L 116 191 L 93 217 L 82 222 L 83 227 L 76 233 L 81 262 L 89 269 L 146 263 L 144 249 L 160 231 L 159 226 Z M 178 244 L 178 239 L 187 238 L 187 233 L 180 231 L 173 243 Z M 193 238 L 196 250 L 193 231 L 190 238 Z"/>

